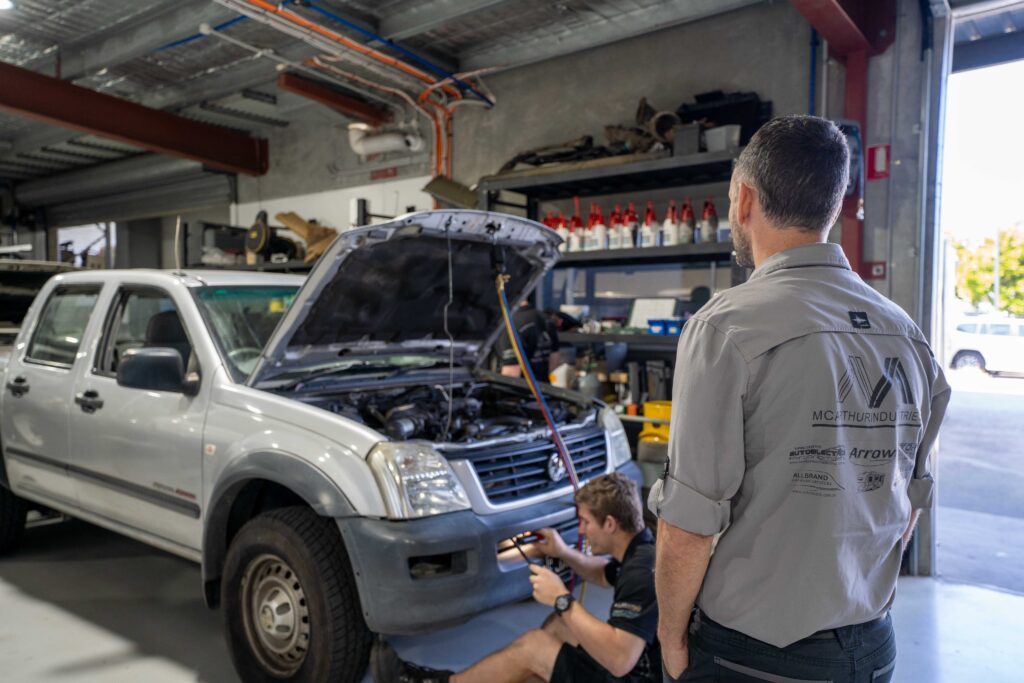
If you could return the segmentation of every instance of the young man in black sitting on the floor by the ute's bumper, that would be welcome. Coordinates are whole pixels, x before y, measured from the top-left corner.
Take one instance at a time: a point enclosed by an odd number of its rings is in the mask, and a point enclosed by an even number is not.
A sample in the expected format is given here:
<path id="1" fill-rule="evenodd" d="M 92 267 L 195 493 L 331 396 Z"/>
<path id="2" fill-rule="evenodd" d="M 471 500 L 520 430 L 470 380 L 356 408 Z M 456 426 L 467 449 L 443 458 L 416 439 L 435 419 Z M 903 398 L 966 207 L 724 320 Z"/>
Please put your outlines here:
<path id="1" fill-rule="evenodd" d="M 643 524 L 636 484 L 621 474 L 607 474 L 587 483 L 575 500 L 580 530 L 594 555 L 569 548 L 551 528 L 537 531 L 541 540 L 527 549 L 531 555 L 566 562 L 588 583 L 613 588 L 607 622 L 577 602 L 558 574 L 531 565 L 534 599 L 554 608 L 540 629 L 458 674 L 402 661 L 390 645 L 378 643 L 371 658 L 377 683 L 660 680 L 654 544 Z"/>

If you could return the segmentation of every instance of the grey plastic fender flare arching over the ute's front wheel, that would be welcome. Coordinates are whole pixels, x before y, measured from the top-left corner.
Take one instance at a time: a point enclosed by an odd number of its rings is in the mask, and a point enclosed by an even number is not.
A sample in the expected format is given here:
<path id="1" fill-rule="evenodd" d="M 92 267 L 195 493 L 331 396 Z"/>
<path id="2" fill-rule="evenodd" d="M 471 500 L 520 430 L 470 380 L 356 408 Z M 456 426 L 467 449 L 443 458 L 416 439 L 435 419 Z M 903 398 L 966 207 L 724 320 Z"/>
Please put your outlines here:
<path id="1" fill-rule="evenodd" d="M 203 586 L 206 603 L 220 600 L 217 587 L 227 556 L 231 508 L 247 484 L 261 480 L 291 490 L 322 517 L 353 517 L 357 513 L 337 483 L 311 463 L 273 451 L 254 452 L 232 461 L 217 479 L 203 524 Z"/>

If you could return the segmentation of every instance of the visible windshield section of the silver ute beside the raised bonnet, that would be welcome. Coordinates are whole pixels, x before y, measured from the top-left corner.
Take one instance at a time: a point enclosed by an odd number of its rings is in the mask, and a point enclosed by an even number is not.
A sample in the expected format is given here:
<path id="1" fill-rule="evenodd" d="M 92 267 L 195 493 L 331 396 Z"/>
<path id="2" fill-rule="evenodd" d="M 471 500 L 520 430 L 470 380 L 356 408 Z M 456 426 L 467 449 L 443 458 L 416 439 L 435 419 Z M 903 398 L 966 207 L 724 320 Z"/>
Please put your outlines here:
<path id="1" fill-rule="evenodd" d="M 196 300 L 236 382 L 249 377 L 298 287 L 202 287 Z"/>

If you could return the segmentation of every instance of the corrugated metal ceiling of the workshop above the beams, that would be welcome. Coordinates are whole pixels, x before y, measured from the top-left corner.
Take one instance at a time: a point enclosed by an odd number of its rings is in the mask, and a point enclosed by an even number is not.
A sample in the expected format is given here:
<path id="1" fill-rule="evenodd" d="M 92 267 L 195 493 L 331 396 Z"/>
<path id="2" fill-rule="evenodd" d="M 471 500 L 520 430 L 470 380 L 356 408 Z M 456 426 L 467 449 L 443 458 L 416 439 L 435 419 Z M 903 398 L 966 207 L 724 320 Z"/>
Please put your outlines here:
<path id="1" fill-rule="evenodd" d="M 750 0 L 754 1 L 754 0 Z M 403 19 L 401 45 L 442 63 L 459 63 L 465 55 L 535 41 L 556 41 L 566 32 L 586 35 L 594 27 L 608 28 L 638 12 L 673 8 L 685 14 L 692 0 L 315 0 L 324 9 L 375 32 L 385 32 L 389 22 Z M 0 12 L 0 60 L 54 73 L 57 56 L 86 49 L 122 33 L 137 36 L 140 27 L 158 26 L 167 14 L 189 8 L 217 10 L 213 0 L 15 0 L 13 11 Z M 361 43 L 368 39 L 342 24 L 309 8 L 294 11 L 339 31 Z M 223 9 L 223 15 L 233 13 Z M 185 14 L 187 19 L 190 14 Z M 409 17 L 415 16 L 410 25 Z M 392 22 L 393 23 L 393 22 Z M 289 123 L 287 108 L 275 100 L 274 62 L 259 59 L 244 47 L 211 37 L 200 37 L 195 28 L 180 23 L 181 35 L 168 35 L 173 46 L 131 54 L 101 68 L 86 70 L 75 82 L 84 87 L 141 103 L 177 111 L 183 116 L 257 131 Z M 163 26 L 163 25 L 160 25 Z M 224 35 L 254 48 L 279 54 L 315 53 L 293 36 L 255 20 L 242 20 L 223 30 Z M 607 34 L 605 34 L 607 36 Z M 163 37 L 161 37 L 163 39 Z M 603 44 L 607 38 L 595 40 Z M 381 43 L 372 43 L 387 49 Z M 147 48 L 148 49 L 148 48 Z M 581 49 L 574 45 L 572 49 Z M 105 52 L 104 52 L 105 54 Z M 104 57 L 105 58 L 105 57 Z M 374 79 L 372 70 L 346 62 L 344 69 Z M 238 79 L 253 83 L 239 83 Z M 219 80 L 218 80 L 219 79 Z M 223 83 L 223 85 L 220 85 Z M 256 87 L 265 96 L 247 96 Z M 353 86 L 353 89 L 357 89 Z M 250 91 L 250 95 L 252 92 Z M 295 105 L 295 100 L 290 102 Z M 68 133 L 48 135 L 48 128 L 26 119 L 0 115 L 0 177 L 37 177 L 68 168 L 100 163 L 137 154 L 128 145 L 91 136 Z M 39 144 L 30 142 L 41 140 Z"/>

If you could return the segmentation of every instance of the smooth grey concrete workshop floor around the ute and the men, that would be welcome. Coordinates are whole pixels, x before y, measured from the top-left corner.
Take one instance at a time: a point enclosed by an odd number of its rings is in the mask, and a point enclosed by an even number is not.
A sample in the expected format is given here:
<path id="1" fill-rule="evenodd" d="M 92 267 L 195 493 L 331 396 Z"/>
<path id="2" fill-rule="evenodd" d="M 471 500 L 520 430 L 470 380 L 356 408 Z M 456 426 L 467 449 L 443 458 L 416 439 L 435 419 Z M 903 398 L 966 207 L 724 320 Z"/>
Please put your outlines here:
<path id="1" fill-rule="evenodd" d="M 607 612 L 610 594 L 587 606 Z M 524 602 L 428 636 L 397 638 L 406 656 L 463 667 L 536 626 Z M 17 683 L 229 683 L 221 614 L 200 596 L 199 568 L 81 522 L 34 528 L 0 561 L 0 680 Z M 904 579 L 894 609 L 901 683 L 1017 683 L 1024 597 Z"/>

